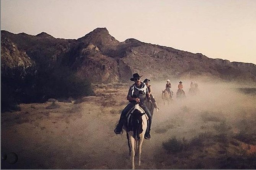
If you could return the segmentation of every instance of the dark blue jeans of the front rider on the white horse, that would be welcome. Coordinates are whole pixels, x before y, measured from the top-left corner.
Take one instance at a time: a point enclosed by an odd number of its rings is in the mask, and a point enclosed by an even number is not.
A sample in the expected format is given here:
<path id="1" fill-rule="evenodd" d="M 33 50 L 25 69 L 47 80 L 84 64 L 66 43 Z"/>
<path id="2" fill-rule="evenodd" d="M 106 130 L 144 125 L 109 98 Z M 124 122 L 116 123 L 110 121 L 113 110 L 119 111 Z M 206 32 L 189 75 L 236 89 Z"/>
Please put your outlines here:
<path id="1" fill-rule="evenodd" d="M 121 115 L 120 115 L 120 119 L 119 122 L 116 126 L 117 129 L 119 129 L 120 131 L 122 130 L 122 127 L 124 125 L 124 123 L 126 122 L 126 114 L 129 112 L 130 109 L 132 109 L 132 107 L 135 106 L 135 102 L 130 102 L 129 104 L 127 104 L 126 107 L 124 107 Z M 150 111 L 148 110 L 146 104 L 139 104 L 140 107 L 146 112 L 147 116 L 148 116 L 148 126 L 147 126 L 147 130 L 146 133 L 149 133 L 151 130 L 151 123 L 152 123 L 152 115 L 150 113 Z"/>

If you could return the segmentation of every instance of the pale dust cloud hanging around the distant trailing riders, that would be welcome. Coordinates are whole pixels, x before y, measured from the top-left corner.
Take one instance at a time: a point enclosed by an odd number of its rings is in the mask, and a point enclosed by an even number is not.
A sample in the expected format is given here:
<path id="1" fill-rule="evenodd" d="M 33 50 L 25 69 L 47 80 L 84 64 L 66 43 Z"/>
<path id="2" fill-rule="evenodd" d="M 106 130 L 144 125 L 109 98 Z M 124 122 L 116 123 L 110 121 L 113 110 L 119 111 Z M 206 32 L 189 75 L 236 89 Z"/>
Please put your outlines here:
<path id="1" fill-rule="evenodd" d="M 154 112 L 153 124 L 155 127 L 163 126 L 163 122 L 169 121 L 171 123 L 171 120 L 179 119 L 188 121 L 187 123 L 194 122 L 187 127 L 189 130 L 193 130 L 202 125 L 198 121 L 204 115 L 216 117 L 229 123 L 256 118 L 256 96 L 246 95 L 239 91 L 239 88 L 248 86 L 243 87 L 236 83 L 225 82 L 207 83 L 197 80 L 199 94 L 190 95 L 191 81 L 183 80 L 183 90 L 186 93 L 186 98 L 182 99 L 176 98 L 179 80 L 171 81 L 174 96 L 169 105 L 166 103 L 163 105 L 161 99 L 161 92 L 165 89 L 166 82 L 151 82 L 152 93 L 160 106 L 160 111 Z M 182 134 L 178 134 L 181 137 Z"/>

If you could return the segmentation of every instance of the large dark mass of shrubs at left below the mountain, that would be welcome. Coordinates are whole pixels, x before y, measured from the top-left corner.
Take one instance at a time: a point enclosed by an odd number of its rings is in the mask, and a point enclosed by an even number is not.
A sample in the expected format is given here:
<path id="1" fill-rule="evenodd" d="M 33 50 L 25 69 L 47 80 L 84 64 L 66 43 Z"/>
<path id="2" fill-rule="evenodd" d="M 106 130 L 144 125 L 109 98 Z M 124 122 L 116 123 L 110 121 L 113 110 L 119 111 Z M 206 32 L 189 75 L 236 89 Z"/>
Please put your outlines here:
<path id="1" fill-rule="evenodd" d="M 42 64 L 41 64 L 42 65 Z M 45 102 L 49 98 L 93 95 L 91 83 L 68 67 L 22 67 L 1 71 L 1 111 L 18 109 L 19 103 Z"/>

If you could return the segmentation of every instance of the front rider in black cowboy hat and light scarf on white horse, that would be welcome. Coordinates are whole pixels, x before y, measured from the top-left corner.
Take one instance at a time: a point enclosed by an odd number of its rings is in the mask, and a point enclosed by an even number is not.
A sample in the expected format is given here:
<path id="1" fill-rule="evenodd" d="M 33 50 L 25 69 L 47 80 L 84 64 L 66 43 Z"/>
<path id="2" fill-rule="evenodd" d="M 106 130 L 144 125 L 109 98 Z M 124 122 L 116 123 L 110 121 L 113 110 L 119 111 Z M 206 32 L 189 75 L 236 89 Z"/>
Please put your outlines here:
<path id="1" fill-rule="evenodd" d="M 131 81 L 134 81 L 134 84 L 129 88 L 127 94 L 127 100 L 129 100 L 130 103 L 123 109 L 114 132 L 116 134 L 120 134 L 122 132 L 122 127 L 126 122 L 127 112 L 130 111 L 130 109 L 132 109 L 136 103 L 139 103 L 140 107 L 142 107 L 148 116 L 148 126 L 144 138 L 150 140 L 152 115 L 145 104 L 146 98 L 150 98 L 150 96 L 148 93 L 147 85 L 140 81 L 140 77 L 142 76 L 140 76 L 138 73 L 134 73 L 133 78 L 130 79 Z"/>

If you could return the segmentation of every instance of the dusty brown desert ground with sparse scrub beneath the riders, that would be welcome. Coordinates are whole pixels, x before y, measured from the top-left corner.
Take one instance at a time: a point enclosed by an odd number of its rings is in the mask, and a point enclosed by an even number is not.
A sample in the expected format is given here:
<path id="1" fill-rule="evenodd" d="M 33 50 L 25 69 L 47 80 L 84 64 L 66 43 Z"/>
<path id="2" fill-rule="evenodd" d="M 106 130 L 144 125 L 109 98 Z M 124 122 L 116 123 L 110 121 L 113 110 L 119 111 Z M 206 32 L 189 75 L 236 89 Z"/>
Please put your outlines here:
<path id="1" fill-rule="evenodd" d="M 171 81 L 174 94 L 177 81 Z M 198 82 L 200 93 L 163 104 L 165 82 L 151 81 L 159 112 L 137 169 L 255 169 L 256 88 Z M 127 84 L 95 84 L 95 96 L 20 104 L 1 114 L 2 169 L 130 169 L 126 133 L 113 130 Z M 239 90 L 240 89 L 240 90 Z M 3 159 L 14 152 L 15 164 Z M 10 158 L 9 158 L 10 159 Z M 137 160 L 137 159 L 136 159 Z"/>

